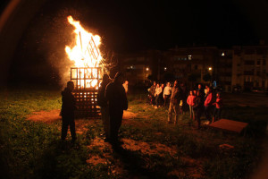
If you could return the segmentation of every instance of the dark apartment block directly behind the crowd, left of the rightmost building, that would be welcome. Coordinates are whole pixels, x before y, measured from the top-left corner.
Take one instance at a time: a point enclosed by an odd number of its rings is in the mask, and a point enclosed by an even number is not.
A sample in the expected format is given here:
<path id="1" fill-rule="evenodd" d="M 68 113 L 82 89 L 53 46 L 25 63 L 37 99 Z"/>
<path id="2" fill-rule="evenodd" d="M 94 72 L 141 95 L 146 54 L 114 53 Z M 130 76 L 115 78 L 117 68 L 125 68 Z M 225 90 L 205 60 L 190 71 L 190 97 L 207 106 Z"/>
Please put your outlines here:
<path id="1" fill-rule="evenodd" d="M 214 80 L 214 67 L 217 59 L 216 47 L 175 47 L 167 51 L 166 58 L 170 71 L 180 81 L 211 83 Z M 211 77 L 204 81 L 204 76 Z"/>

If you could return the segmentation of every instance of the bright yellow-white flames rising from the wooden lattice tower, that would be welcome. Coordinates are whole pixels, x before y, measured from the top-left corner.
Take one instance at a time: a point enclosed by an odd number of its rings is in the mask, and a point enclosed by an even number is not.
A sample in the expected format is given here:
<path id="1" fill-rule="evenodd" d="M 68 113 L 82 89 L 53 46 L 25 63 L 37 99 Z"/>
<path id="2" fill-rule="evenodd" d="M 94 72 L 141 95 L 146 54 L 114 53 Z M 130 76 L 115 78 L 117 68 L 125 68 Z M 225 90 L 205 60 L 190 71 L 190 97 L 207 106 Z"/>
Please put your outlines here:
<path id="1" fill-rule="evenodd" d="M 73 47 L 66 46 L 65 52 L 69 59 L 74 61 L 75 67 L 90 67 L 72 72 L 72 75 L 80 79 L 78 81 L 79 88 L 97 88 L 96 79 L 100 74 L 97 74 L 97 70 L 94 68 L 99 67 L 102 60 L 99 51 L 101 38 L 85 30 L 80 25 L 80 21 L 74 21 L 71 16 L 68 16 L 67 19 L 75 27 L 75 45 Z"/>

